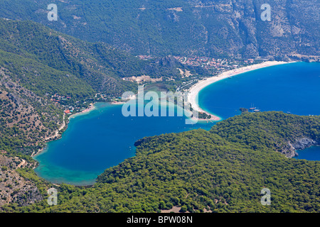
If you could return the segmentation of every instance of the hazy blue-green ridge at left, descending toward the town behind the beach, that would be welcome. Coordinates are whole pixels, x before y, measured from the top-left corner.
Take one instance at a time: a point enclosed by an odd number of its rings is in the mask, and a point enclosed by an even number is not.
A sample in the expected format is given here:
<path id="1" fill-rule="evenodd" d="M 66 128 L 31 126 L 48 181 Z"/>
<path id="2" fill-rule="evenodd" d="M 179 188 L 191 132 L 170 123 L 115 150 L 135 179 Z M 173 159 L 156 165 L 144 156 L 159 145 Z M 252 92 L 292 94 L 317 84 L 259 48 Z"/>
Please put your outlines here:
<path id="1" fill-rule="evenodd" d="M 121 96 L 123 92 L 137 90 L 137 84 L 123 80 L 123 77 L 180 77 L 176 67 L 183 68 L 180 63 L 170 62 L 166 58 L 140 60 L 110 45 L 78 40 L 31 21 L 2 19 L 0 28 L 0 50 L 36 61 L 39 67 L 48 67 L 47 71 L 60 71 L 57 72 L 59 76 L 55 75 L 56 79 L 75 79 L 77 89 L 87 94 L 99 92 Z M 170 64 L 164 65 L 166 61 Z M 62 77 L 61 74 L 67 76 Z M 53 79 L 48 79 L 48 84 L 53 83 Z M 55 87 L 59 87 L 59 84 L 55 83 Z M 60 84 L 60 89 L 66 87 L 68 85 Z M 48 92 L 51 94 L 50 89 Z"/>

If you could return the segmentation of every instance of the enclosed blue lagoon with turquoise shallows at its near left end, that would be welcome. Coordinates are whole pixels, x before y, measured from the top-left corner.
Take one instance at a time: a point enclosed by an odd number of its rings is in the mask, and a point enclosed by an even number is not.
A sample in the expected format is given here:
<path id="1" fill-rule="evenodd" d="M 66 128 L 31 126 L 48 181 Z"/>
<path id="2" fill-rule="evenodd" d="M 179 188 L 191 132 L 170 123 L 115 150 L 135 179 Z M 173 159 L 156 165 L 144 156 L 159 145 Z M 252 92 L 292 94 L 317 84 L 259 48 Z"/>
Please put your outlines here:
<path id="1" fill-rule="evenodd" d="M 122 105 L 96 104 L 97 109 L 70 119 L 60 140 L 48 143 L 35 157 L 36 173 L 50 182 L 87 185 L 108 167 L 135 155 L 134 142 L 145 136 L 210 129 L 212 123 L 186 125 L 186 117 L 124 117 Z M 171 107 L 172 108 L 172 107 Z"/>

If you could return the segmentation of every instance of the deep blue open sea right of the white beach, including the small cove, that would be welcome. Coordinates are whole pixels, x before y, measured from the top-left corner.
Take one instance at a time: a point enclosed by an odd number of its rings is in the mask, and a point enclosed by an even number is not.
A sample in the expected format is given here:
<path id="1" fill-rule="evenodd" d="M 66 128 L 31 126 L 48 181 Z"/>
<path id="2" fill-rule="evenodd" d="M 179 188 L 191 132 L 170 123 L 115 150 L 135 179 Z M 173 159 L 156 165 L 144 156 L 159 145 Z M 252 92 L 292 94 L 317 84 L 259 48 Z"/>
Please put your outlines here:
<path id="1" fill-rule="evenodd" d="M 198 94 L 202 109 L 229 118 L 240 107 L 320 115 L 320 63 L 297 62 L 266 67 L 223 79 Z M 297 159 L 320 160 L 320 147 L 299 150 Z"/>

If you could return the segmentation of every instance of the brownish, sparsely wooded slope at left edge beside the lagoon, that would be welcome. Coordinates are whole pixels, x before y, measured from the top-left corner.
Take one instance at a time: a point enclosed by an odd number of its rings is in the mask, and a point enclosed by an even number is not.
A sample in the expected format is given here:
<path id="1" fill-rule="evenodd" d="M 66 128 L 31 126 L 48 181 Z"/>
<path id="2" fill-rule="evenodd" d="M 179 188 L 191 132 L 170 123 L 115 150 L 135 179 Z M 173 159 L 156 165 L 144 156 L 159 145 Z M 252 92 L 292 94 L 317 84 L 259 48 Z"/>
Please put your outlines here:
<path id="1" fill-rule="evenodd" d="M 23 70 L 28 65 L 16 61 L 17 57 L 10 62 L 10 54 L 0 50 L 0 56 L 4 55 L 8 58 L 0 57 L 0 64 L 5 62 L 10 67 L 0 67 L 0 150 L 11 155 L 31 155 L 63 123 L 63 109 L 45 96 L 22 87 L 11 67 Z M 41 68 L 37 70 L 42 72 Z M 38 81 L 41 86 L 41 80 Z"/>

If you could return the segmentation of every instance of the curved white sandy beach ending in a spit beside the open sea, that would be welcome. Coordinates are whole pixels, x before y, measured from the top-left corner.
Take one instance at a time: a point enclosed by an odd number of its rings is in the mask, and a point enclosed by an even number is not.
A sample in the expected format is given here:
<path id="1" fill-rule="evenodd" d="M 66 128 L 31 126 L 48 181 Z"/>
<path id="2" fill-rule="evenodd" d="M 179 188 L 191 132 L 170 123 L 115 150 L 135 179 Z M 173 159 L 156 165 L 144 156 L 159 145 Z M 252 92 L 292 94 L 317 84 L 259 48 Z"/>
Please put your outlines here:
<path id="1" fill-rule="evenodd" d="M 235 70 L 230 70 L 227 72 L 223 72 L 221 74 L 219 74 L 218 76 L 215 77 L 210 77 L 204 80 L 199 81 L 197 84 L 193 85 L 193 87 L 191 87 L 191 89 L 188 92 L 188 101 L 191 104 L 192 108 L 198 112 L 203 112 L 206 113 L 208 115 L 211 115 L 210 121 L 220 121 L 220 117 L 215 116 L 211 113 L 208 113 L 207 111 L 204 111 L 203 109 L 200 108 L 200 106 L 198 105 L 198 100 L 197 100 L 197 96 L 198 93 L 205 87 L 207 87 L 209 84 L 213 84 L 215 82 L 220 81 L 221 79 L 226 79 L 228 77 L 233 77 L 235 75 L 238 74 L 242 74 L 244 72 L 250 72 L 252 70 L 258 70 L 264 67 L 270 67 L 273 65 L 283 65 L 283 64 L 287 64 L 287 63 L 291 63 L 291 62 L 277 62 L 277 61 L 269 61 L 269 62 L 262 62 L 260 64 L 257 65 L 250 65 L 247 67 L 241 67 L 239 69 L 235 69 Z M 201 120 L 201 119 L 199 119 Z"/>

